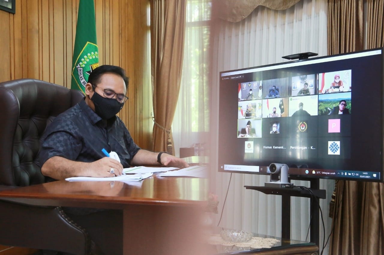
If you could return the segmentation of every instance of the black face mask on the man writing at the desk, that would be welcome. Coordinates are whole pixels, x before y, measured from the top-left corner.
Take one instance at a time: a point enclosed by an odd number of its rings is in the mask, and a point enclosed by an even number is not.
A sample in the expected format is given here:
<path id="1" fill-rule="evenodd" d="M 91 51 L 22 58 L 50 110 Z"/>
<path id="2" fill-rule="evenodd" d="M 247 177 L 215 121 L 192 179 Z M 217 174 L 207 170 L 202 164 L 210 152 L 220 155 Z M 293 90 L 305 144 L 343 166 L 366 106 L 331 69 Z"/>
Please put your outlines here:
<path id="1" fill-rule="evenodd" d="M 102 119 L 112 118 L 124 106 L 124 103 L 119 103 L 115 98 L 105 98 L 96 92 L 93 93 L 91 100 L 95 105 L 96 114 Z"/>

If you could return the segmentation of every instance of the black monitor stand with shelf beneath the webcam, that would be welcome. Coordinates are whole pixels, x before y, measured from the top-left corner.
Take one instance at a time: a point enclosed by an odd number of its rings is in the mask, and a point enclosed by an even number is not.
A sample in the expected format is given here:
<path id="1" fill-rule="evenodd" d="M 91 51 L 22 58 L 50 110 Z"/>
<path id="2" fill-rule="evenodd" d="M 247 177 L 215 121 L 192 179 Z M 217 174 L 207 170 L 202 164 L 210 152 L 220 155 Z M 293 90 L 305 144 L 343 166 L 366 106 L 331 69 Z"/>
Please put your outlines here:
<path id="1" fill-rule="evenodd" d="M 291 239 L 291 196 L 298 196 L 311 199 L 311 223 L 310 223 L 310 241 L 320 247 L 319 242 L 319 199 L 326 198 L 326 191 L 319 190 L 319 179 L 313 178 L 291 178 L 291 180 L 310 181 L 310 190 L 301 188 L 271 188 L 265 186 L 244 186 L 247 190 L 258 190 L 267 195 L 281 195 L 281 237 Z M 316 201 L 312 201 L 316 199 Z"/>

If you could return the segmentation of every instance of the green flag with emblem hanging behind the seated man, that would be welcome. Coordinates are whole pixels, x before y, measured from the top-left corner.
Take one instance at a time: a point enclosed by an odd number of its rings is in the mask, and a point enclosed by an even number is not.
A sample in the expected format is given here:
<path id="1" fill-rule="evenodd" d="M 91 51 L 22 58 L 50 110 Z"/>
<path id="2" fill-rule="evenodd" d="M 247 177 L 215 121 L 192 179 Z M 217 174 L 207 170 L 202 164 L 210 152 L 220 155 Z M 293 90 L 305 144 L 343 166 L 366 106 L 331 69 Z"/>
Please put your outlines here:
<path id="1" fill-rule="evenodd" d="M 89 74 L 99 66 L 93 0 L 80 0 L 72 58 L 71 89 L 85 93 Z"/>

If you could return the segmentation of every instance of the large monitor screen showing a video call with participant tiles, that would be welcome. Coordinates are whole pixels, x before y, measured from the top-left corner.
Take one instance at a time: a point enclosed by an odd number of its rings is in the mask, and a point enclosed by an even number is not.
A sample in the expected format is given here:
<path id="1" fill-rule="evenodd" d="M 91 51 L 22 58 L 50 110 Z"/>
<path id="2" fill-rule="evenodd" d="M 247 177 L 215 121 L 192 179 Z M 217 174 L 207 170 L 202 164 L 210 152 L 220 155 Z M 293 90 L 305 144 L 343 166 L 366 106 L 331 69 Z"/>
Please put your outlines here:
<path id="1" fill-rule="evenodd" d="M 218 170 L 382 181 L 383 49 L 220 72 Z"/>

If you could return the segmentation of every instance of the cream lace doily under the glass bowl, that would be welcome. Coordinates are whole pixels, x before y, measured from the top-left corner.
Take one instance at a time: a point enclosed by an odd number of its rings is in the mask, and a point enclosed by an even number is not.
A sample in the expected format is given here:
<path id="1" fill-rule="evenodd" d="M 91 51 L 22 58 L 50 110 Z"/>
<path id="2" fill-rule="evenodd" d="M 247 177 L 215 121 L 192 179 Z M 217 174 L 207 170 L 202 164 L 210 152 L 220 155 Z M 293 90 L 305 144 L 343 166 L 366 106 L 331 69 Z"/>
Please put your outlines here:
<path id="1" fill-rule="evenodd" d="M 213 245 L 221 244 L 224 246 L 235 246 L 235 247 L 242 247 L 242 248 L 250 247 L 254 249 L 271 248 L 277 242 L 280 242 L 280 240 L 273 239 L 273 238 L 252 237 L 252 239 L 249 240 L 248 242 L 233 243 L 233 242 L 227 242 L 223 240 L 220 234 L 211 235 L 208 238 L 208 243 Z"/>

